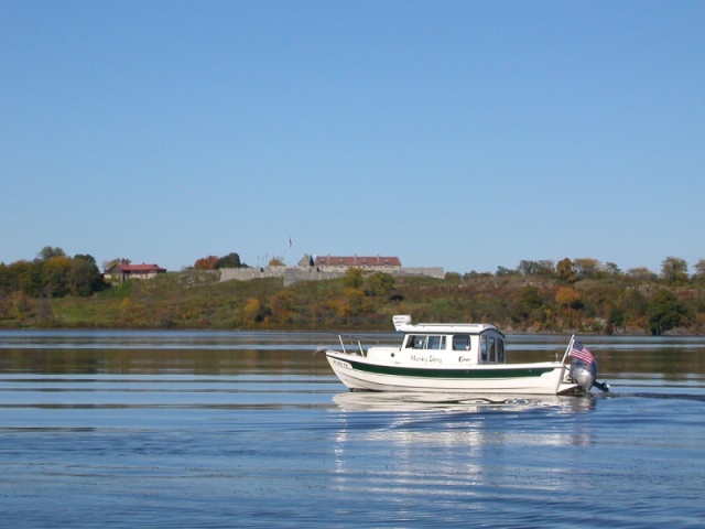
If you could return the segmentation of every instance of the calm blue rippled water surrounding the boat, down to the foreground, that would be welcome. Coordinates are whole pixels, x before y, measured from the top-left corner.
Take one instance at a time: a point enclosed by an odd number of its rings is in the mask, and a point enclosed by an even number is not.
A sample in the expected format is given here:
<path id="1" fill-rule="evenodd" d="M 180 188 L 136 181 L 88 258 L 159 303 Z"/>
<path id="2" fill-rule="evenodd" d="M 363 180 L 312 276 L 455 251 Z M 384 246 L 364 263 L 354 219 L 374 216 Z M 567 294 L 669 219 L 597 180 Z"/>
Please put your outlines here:
<path id="1" fill-rule="evenodd" d="M 322 334 L 0 332 L 0 526 L 703 527 L 705 338 L 582 341 L 609 395 L 349 393 Z"/>

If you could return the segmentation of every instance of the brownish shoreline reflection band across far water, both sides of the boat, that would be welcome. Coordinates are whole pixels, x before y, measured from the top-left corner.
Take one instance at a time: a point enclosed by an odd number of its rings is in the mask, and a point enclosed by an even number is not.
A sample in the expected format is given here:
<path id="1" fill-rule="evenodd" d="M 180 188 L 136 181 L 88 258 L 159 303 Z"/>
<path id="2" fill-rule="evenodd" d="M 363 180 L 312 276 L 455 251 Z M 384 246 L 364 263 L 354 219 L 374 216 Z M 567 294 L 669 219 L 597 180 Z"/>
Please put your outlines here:
<path id="1" fill-rule="evenodd" d="M 397 344 L 394 333 L 364 333 L 369 342 Z M 584 336 L 598 378 L 660 377 L 705 386 L 705 337 Z M 330 374 L 322 344 L 329 333 L 206 331 L 0 331 L 0 371 L 84 374 L 227 375 L 239 373 Z M 560 358 L 567 336 L 510 335 L 509 361 Z"/>

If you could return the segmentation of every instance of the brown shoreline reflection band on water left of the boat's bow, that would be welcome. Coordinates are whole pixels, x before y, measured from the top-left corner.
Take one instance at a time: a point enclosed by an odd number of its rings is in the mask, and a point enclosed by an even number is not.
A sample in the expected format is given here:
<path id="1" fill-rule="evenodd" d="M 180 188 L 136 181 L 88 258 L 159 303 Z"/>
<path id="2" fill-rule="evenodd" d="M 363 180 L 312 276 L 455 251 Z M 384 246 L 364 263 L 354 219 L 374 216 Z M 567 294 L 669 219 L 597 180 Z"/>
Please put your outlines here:
<path id="1" fill-rule="evenodd" d="M 329 374 L 318 335 L 209 332 L 0 332 L 0 371 L 96 375 Z"/>

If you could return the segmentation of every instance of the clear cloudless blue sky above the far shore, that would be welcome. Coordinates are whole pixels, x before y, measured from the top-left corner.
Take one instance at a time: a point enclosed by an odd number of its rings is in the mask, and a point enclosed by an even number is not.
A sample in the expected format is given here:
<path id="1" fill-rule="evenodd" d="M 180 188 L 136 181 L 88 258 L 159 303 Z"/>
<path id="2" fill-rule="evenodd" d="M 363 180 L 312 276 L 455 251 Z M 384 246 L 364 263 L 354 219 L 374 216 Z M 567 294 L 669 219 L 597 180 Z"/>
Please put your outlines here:
<path id="1" fill-rule="evenodd" d="M 0 79 L 6 263 L 705 259 L 704 1 L 3 0 Z"/>

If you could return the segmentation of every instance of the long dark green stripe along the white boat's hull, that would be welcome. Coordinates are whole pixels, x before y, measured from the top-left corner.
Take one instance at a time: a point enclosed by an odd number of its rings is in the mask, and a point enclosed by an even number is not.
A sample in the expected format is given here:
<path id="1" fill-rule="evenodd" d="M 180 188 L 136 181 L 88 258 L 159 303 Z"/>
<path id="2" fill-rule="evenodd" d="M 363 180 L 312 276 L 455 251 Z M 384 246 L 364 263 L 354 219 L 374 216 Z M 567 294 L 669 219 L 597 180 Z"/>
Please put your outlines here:
<path id="1" fill-rule="evenodd" d="M 334 357 L 335 358 L 335 357 Z M 419 378 L 522 378 L 522 377 L 540 377 L 545 373 L 551 373 L 554 367 L 521 367 L 521 368 L 503 368 L 503 369 L 425 369 L 421 367 L 394 367 L 394 366 L 377 366 L 362 361 L 350 360 L 345 358 L 354 369 L 377 375 L 393 375 L 397 377 L 419 377 Z"/>

